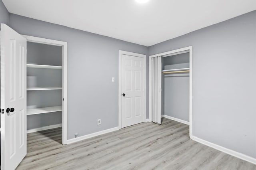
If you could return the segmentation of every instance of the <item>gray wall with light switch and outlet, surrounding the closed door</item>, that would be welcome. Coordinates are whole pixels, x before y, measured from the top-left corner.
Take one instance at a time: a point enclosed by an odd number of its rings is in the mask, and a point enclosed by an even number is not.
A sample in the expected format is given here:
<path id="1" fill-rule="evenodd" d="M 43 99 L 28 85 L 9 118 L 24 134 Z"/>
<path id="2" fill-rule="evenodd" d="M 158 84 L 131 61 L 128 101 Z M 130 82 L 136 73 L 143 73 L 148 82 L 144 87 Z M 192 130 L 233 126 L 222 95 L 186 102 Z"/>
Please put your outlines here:
<path id="1" fill-rule="evenodd" d="M 118 126 L 118 52 L 147 54 L 148 47 L 15 14 L 9 25 L 20 34 L 68 42 L 68 139 Z"/>

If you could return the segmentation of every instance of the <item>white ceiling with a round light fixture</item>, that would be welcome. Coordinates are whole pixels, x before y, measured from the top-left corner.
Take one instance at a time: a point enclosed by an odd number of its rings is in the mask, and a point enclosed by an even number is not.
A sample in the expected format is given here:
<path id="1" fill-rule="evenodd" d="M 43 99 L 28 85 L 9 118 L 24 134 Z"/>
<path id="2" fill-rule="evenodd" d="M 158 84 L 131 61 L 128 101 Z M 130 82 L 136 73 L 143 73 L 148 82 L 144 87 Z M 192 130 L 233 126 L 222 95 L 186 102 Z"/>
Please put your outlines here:
<path id="1" fill-rule="evenodd" d="M 256 10 L 256 0 L 2 0 L 9 12 L 150 46 Z"/>

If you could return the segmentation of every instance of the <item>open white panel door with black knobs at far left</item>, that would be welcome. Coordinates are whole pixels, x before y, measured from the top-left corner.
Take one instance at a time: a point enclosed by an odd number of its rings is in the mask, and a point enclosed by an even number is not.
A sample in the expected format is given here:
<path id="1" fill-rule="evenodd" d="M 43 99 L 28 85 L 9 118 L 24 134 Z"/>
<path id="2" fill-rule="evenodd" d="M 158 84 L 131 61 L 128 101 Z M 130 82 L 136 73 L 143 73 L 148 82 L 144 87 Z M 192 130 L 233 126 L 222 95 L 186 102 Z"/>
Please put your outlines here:
<path id="1" fill-rule="evenodd" d="M 1 168 L 14 170 L 27 153 L 26 39 L 1 24 Z"/>

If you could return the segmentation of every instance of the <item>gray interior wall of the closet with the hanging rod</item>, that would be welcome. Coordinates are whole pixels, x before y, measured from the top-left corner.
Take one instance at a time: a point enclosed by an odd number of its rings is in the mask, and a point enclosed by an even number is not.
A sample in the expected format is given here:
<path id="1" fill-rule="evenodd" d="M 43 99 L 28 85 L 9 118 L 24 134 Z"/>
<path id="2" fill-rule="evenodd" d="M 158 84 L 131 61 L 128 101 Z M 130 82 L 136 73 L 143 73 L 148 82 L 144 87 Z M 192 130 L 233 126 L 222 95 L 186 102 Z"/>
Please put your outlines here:
<path id="1" fill-rule="evenodd" d="M 162 70 L 189 68 L 189 52 L 162 57 Z M 189 122 L 189 72 L 162 73 L 162 115 Z"/>

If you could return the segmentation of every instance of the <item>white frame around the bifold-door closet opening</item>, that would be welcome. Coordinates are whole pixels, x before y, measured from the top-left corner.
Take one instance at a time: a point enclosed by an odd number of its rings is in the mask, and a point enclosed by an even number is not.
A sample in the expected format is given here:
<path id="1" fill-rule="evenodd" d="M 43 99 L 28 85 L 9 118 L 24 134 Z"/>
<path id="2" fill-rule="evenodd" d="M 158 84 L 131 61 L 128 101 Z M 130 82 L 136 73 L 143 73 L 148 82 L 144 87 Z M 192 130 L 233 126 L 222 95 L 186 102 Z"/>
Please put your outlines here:
<path id="1" fill-rule="evenodd" d="M 172 51 L 167 51 L 164 53 L 159 53 L 155 55 L 149 56 L 149 71 L 151 68 L 151 58 L 163 56 L 163 55 L 177 55 L 181 53 L 189 52 L 189 136 L 190 138 L 193 136 L 193 46 L 188 46 L 180 49 L 174 49 Z M 165 56 L 163 56 L 165 57 Z M 151 77 L 149 77 L 149 101 L 151 100 L 152 94 L 151 94 Z M 158 82 L 161 83 L 161 82 Z M 151 113 L 151 103 L 149 102 L 149 113 Z M 162 114 L 162 113 L 161 113 Z M 149 121 L 151 122 L 151 114 L 149 114 Z"/>

